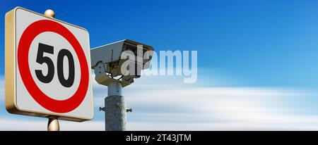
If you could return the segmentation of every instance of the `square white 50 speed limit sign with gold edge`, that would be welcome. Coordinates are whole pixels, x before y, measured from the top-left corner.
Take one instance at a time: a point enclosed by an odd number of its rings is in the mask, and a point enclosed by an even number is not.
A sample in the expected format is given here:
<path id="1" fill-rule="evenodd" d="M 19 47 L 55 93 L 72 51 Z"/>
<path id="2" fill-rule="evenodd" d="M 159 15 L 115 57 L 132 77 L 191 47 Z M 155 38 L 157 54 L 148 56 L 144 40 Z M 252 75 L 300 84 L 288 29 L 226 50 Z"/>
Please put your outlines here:
<path id="1" fill-rule="evenodd" d="M 25 8 L 6 13 L 6 109 L 62 120 L 93 118 L 87 30 Z"/>

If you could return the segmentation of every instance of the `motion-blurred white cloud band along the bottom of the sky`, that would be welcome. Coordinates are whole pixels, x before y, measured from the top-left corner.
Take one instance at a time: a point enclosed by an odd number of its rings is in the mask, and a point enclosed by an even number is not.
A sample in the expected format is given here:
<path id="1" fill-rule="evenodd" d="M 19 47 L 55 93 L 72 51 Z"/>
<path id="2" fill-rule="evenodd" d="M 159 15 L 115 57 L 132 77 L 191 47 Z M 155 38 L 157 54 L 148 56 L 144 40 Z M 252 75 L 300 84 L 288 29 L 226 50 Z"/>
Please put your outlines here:
<path id="1" fill-rule="evenodd" d="M 95 107 L 103 106 L 107 87 L 95 81 L 93 85 Z M 123 92 L 127 107 L 133 108 L 127 115 L 128 130 L 318 130 L 318 115 L 301 115 L 298 112 L 307 112 L 307 108 L 295 106 L 298 102 L 293 101 L 312 101 L 317 96 L 315 92 L 272 87 L 200 87 L 183 84 L 179 77 L 141 78 Z M 97 114 L 103 118 L 104 113 Z M 60 126 L 61 130 L 105 127 L 100 119 L 60 121 Z M 47 120 L 0 118 L 0 130 L 47 130 L 46 127 Z"/>

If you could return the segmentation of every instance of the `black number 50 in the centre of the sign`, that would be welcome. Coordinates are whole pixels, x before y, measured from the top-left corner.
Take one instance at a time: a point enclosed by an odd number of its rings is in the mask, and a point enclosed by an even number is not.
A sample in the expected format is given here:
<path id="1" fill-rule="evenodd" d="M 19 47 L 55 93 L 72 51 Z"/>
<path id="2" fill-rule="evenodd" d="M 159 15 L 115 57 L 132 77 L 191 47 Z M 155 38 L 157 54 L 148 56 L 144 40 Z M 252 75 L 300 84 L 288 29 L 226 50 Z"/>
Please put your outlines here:
<path id="1" fill-rule="evenodd" d="M 37 63 L 41 65 L 43 63 L 47 64 L 47 75 L 43 75 L 42 70 L 35 70 L 35 75 L 37 75 L 37 79 L 43 83 L 49 83 L 53 80 L 54 77 L 54 63 L 51 58 L 47 56 L 43 56 L 44 53 L 54 54 L 54 47 L 49 46 L 47 44 L 39 43 L 37 49 Z M 64 56 L 66 56 L 69 60 L 69 78 L 65 79 L 64 77 Z M 67 49 L 61 49 L 57 54 L 57 77 L 59 77 L 59 82 L 64 87 L 71 87 L 74 83 L 75 76 L 75 68 L 74 68 L 74 59 L 71 52 Z"/>

